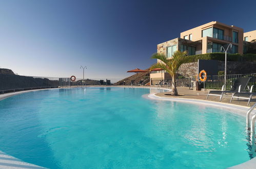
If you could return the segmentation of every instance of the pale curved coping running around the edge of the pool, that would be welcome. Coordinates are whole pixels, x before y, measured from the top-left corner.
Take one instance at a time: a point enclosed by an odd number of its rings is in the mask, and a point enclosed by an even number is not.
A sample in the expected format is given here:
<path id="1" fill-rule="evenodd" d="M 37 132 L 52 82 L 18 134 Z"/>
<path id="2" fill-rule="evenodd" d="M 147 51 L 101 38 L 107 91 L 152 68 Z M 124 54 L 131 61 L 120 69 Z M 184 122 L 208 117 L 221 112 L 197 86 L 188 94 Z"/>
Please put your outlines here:
<path id="1" fill-rule="evenodd" d="M 136 86 L 128 86 L 128 87 L 118 87 L 118 86 L 99 86 L 99 87 L 91 87 L 91 86 L 87 86 L 87 87 L 78 87 L 78 88 L 146 88 L 146 89 L 161 89 L 161 90 L 168 90 L 171 91 L 171 89 L 167 89 L 167 88 L 159 88 L 159 87 L 136 87 Z M 27 90 L 27 91 L 19 91 L 19 92 L 12 92 L 12 93 L 5 93 L 5 94 L 1 94 L 0 95 L 0 100 L 3 100 L 5 98 L 14 96 L 14 95 L 18 95 L 18 94 L 22 94 L 22 93 L 27 93 L 27 92 L 33 92 L 33 91 L 40 91 L 40 90 L 57 90 L 57 89 L 73 89 L 73 88 L 52 88 L 52 89 L 35 89 L 35 90 Z M 147 97 L 149 99 L 155 99 L 155 100 L 165 100 L 165 101 L 177 101 L 177 102 L 189 102 L 192 104 L 204 104 L 204 105 L 211 105 L 211 106 L 218 106 L 218 108 L 220 109 L 229 109 L 229 110 L 239 110 L 240 112 L 244 112 L 244 113 L 238 113 L 238 112 L 232 112 L 234 114 L 240 114 L 245 116 L 246 112 L 248 111 L 248 107 L 245 107 L 243 105 L 236 105 L 236 104 L 229 104 L 229 103 L 223 103 L 223 102 L 216 102 L 216 101 L 210 101 L 210 100 L 200 100 L 200 99 L 191 99 L 191 98 L 173 98 L 173 97 L 161 97 L 161 96 L 156 96 L 156 93 L 149 93 L 147 94 Z M 256 113 L 256 110 L 252 111 L 252 113 Z M 251 114 L 252 114 L 251 113 Z M 15 168 L 19 165 L 19 167 L 22 168 L 22 166 L 26 167 L 26 168 L 45 168 L 42 166 L 38 166 L 35 164 L 31 164 L 31 163 L 27 163 L 24 162 L 22 160 L 19 160 L 13 156 L 7 155 L 4 152 L 0 151 L 0 157 L 4 156 L 7 159 L 15 159 L 16 163 L 6 163 L 6 160 L 0 159 L 0 166 L 2 166 L 1 164 L 8 164 L 8 168 Z M 242 168 L 253 168 L 256 165 L 256 158 L 253 158 L 251 160 L 248 160 L 246 162 L 243 162 L 241 164 L 238 165 L 234 165 L 228 168 L 231 169 L 242 169 Z"/>

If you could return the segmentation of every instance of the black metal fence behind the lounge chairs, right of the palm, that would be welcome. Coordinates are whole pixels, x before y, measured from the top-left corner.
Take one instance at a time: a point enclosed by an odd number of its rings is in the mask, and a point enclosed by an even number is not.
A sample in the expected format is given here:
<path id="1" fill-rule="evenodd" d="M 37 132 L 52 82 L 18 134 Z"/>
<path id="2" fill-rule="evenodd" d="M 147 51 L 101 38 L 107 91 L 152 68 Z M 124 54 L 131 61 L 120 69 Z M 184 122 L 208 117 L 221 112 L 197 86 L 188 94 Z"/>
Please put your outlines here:
<path id="1" fill-rule="evenodd" d="M 233 82 L 238 77 L 251 77 L 248 87 L 250 88 L 252 85 L 253 91 L 255 92 L 256 89 L 256 73 L 252 74 L 233 74 L 233 75 L 227 75 L 226 79 L 226 90 L 230 89 L 230 86 L 233 85 Z M 176 86 L 177 87 L 193 87 L 194 83 L 196 81 L 196 77 L 185 77 L 176 79 Z M 207 76 L 207 79 L 205 82 L 201 83 L 202 88 L 206 89 L 222 89 L 222 86 L 224 85 L 224 75 L 213 75 L 213 76 Z"/>

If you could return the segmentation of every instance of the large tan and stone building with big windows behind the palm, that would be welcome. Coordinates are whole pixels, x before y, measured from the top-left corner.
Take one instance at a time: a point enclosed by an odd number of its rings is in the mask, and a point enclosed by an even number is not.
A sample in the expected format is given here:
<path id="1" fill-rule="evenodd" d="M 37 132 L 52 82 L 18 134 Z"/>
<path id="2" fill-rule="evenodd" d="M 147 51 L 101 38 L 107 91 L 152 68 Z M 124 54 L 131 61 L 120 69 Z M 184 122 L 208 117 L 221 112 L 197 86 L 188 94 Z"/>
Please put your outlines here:
<path id="1" fill-rule="evenodd" d="M 179 38 L 158 44 L 157 53 L 165 54 L 167 58 L 171 58 L 176 50 L 188 51 L 189 55 L 197 55 L 221 52 L 222 46 L 226 48 L 232 44 L 229 53 L 243 54 L 243 41 L 244 30 L 242 28 L 214 21 L 181 32 Z M 170 76 L 163 70 L 155 70 L 150 74 L 151 85 L 159 83 L 160 80 L 169 79 Z"/>

